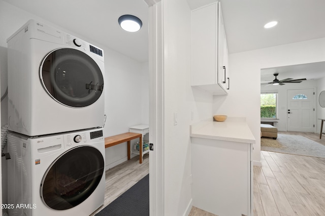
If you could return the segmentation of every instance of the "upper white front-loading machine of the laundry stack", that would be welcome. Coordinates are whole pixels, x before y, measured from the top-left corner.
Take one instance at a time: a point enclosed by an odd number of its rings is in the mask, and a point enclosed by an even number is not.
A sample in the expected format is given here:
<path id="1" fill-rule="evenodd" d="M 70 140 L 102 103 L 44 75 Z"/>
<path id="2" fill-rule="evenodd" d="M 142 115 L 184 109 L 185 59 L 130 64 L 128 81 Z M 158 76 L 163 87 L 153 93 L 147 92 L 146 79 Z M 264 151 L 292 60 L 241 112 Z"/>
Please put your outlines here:
<path id="1" fill-rule="evenodd" d="M 35 20 L 7 42 L 11 131 L 40 136 L 103 126 L 102 49 Z"/>

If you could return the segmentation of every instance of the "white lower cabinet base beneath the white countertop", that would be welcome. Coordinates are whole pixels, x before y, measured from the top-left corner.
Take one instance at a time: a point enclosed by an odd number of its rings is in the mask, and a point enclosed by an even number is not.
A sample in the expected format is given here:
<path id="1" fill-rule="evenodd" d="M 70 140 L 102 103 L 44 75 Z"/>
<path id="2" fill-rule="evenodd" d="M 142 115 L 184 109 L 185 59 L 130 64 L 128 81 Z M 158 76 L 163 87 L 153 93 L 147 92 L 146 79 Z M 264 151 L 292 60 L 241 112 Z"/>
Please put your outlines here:
<path id="1" fill-rule="evenodd" d="M 251 148 L 191 137 L 193 206 L 218 216 L 252 215 Z"/>

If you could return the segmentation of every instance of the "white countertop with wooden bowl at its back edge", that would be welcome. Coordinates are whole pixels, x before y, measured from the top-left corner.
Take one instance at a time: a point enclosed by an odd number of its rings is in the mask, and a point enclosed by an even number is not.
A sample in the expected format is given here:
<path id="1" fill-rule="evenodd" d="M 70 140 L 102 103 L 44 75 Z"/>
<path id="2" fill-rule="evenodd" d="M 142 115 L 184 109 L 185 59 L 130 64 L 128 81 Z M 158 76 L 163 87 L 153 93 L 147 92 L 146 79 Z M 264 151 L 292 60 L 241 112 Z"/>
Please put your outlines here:
<path id="1" fill-rule="evenodd" d="M 231 119 L 231 118 L 230 118 Z M 205 120 L 190 125 L 190 136 L 211 140 L 255 143 L 255 138 L 245 120 L 228 118 L 223 121 Z"/>

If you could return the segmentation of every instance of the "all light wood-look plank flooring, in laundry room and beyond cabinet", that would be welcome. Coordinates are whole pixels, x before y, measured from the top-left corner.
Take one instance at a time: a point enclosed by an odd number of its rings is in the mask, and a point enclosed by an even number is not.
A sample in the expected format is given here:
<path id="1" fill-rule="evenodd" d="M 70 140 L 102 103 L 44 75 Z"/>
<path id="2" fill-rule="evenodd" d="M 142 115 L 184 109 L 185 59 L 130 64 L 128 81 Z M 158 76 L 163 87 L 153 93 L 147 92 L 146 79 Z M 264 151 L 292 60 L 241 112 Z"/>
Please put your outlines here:
<path id="1" fill-rule="evenodd" d="M 325 145 L 325 135 L 279 132 L 305 136 Z M 262 167 L 254 166 L 254 216 L 325 215 L 325 158 L 275 152 L 261 152 Z M 139 157 L 106 171 L 105 203 L 100 209 L 131 188 L 149 173 L 149 156 Z M 94 215 L 94 213 L 92 214 Z M 189 216 L 214 216 L 193 207 Z"/>

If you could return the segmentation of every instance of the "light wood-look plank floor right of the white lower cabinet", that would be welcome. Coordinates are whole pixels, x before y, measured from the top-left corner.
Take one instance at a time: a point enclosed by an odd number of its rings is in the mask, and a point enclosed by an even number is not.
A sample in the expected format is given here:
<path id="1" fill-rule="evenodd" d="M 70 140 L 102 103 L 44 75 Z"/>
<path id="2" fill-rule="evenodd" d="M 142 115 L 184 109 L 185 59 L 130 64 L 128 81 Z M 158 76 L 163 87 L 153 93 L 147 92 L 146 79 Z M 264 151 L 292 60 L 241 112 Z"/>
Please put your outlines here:
<path id="1" fill-rule="evenodd" d="M 279 133 L 325 144 L 319 134 Z M 254 166 L 255 216 L 325 215 L 325 158 L 261 151 L 261 162 Z"/>

